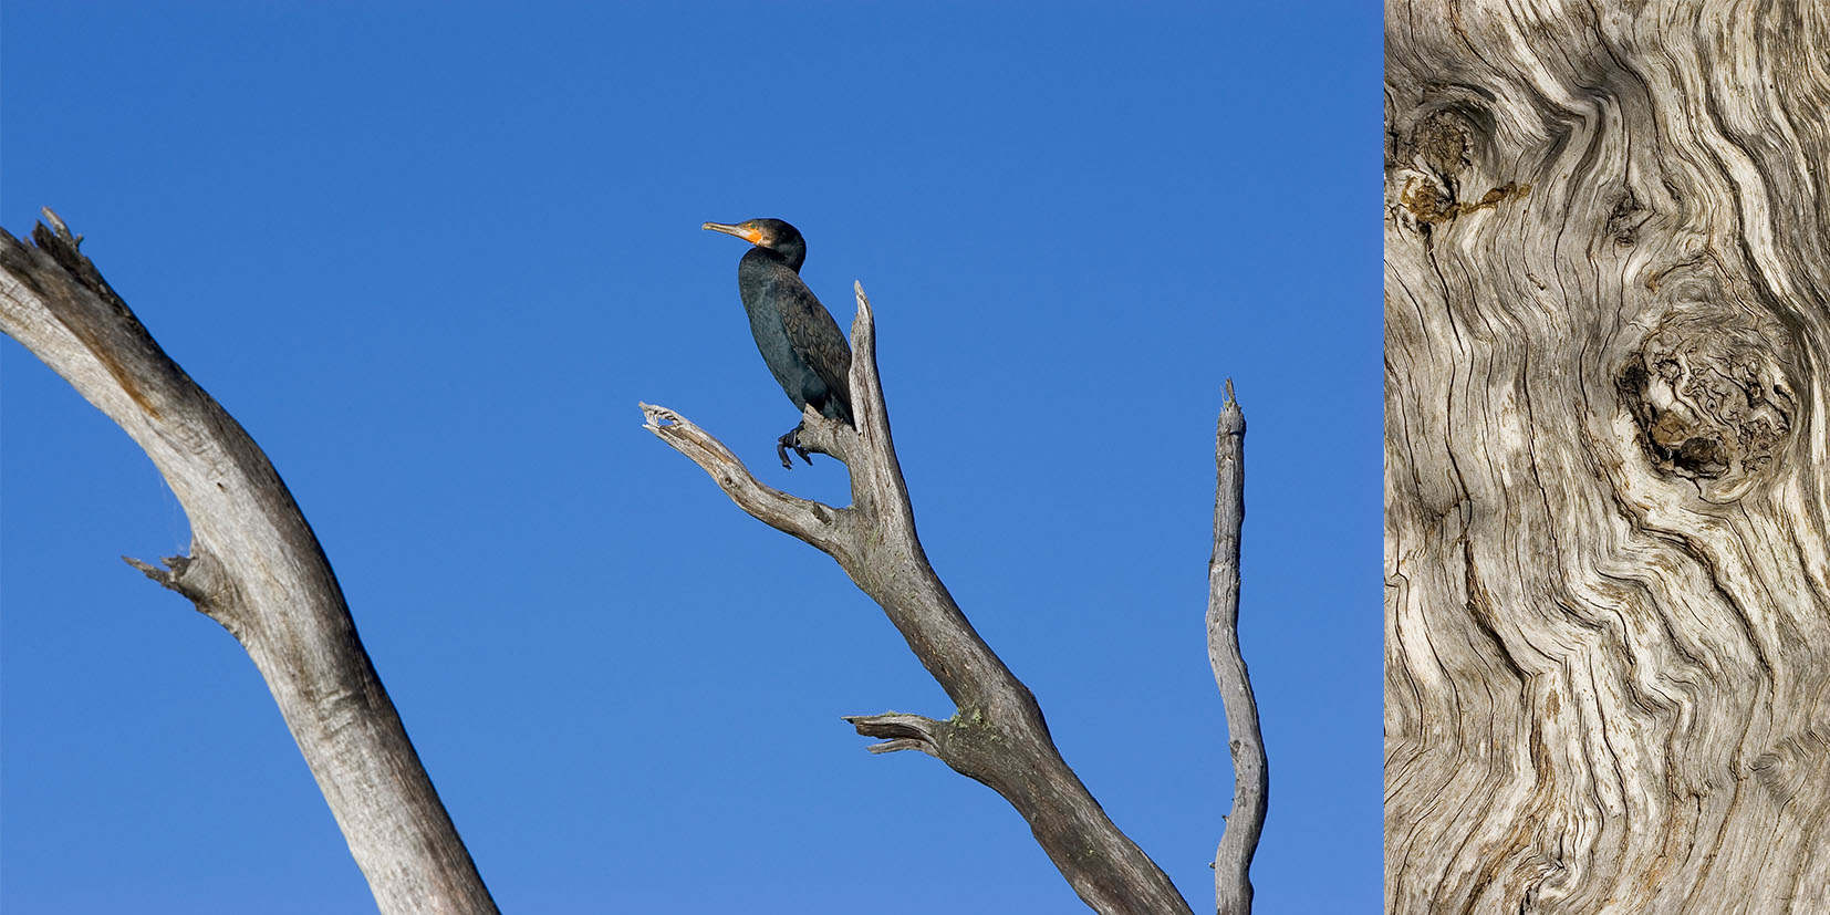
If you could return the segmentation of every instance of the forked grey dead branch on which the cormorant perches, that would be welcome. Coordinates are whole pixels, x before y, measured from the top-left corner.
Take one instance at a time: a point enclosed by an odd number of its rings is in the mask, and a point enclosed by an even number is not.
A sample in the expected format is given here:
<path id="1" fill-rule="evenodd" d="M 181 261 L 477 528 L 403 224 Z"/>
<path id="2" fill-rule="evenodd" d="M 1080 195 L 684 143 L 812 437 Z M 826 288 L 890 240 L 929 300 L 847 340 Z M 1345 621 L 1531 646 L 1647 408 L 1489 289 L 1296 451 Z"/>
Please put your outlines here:
<path id="1" fill-rule="evenodd" d="M 748 514 L 820 547 L 877 600 L 957 706 L 941 721 L 886 714 L 847 717 L 882 737 L 873 752 L 920 750 L 1003 794 L 1028 822 L 1074 891 L 1103 913 L 1188 913 L 1175 886 L 1105 816 L 1061 759 L 1036 697 L 966 622 L 928 564 L 889 439 L 877 377 L 871 304 L 858 293 L 851 326 L 856 430 L 805 412 L 802 441 L 851 468 L 851 507 L 834 509 L 759 483 L 723 445 L 679 414 L 642 404 L 648 430 L 692 458 Z"/>

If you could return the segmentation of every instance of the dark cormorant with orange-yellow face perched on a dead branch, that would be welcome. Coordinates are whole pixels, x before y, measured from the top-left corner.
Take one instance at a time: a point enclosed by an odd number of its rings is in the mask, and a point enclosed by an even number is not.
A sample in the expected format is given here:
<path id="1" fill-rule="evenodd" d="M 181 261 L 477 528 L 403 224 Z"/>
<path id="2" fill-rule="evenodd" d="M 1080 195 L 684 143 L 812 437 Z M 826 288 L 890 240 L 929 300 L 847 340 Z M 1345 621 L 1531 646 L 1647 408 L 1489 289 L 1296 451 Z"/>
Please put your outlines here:
<path id="1" fill-rule="evenodd" d="M 800 278 L 800 265 L 807 262 L 807 240 L 781 220 L 705 223 L 701 229 L 734 234 L 756 245 L 737 262 L 737 295 L 743 296 L 743 311 L 750 313 L 756 348 L 761 350 L 763 362 L 769 362 L 769 373 L 781 384 L 789 401 L 794 401 L 794 408 L 813 406 L 827 419 L 844 419 L 845 425 L 856 426 L 851 419 L 847 381 L 851 344 Z M 794 448 L 802 461 L 813 463 L 807 448 L 800 447 L 803 425 L 796 423 L 776 441 L 781 467 L 794 467 L 789 461 L 789 448 Z"/>

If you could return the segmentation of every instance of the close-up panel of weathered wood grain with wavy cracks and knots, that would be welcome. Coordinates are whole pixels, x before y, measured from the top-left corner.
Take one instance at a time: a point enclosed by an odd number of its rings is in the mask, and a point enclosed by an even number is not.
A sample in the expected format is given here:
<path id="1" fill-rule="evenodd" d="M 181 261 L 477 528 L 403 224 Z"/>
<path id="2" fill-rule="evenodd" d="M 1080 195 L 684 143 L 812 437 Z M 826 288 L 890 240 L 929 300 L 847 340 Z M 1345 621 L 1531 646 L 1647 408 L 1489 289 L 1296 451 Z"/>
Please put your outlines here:
<path id="1" fill-rule="evenodd" d="M 1830 900 L 1826 60 L 1389 0 L 1387 910 Z"/>

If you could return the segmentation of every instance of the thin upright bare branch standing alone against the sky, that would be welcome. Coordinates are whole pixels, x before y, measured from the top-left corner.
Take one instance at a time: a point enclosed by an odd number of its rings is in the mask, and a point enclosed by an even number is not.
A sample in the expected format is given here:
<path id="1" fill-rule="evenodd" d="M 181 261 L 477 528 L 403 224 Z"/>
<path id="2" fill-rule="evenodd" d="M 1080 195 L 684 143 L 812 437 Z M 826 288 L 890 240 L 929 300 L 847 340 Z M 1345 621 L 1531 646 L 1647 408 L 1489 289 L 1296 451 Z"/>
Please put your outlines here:
<path id="1" fill-rule="evenodd" d="M 1215 432 L 1213 560 L 1208 562 L 1208 661 L 1226 701 L 1226 736 L 1233 758 L 1233 813 L 1226 816 L 1213 856 L 1213 900 L 1219 915 L 1252 911 L 1252 853 L 1265 831 L 1270 770 L 1259 734 L 1257 699 L 1239 653 L 1239 533 L 1246 522 L 1246 415 L 1226 382 L 1226 408 Z"/>

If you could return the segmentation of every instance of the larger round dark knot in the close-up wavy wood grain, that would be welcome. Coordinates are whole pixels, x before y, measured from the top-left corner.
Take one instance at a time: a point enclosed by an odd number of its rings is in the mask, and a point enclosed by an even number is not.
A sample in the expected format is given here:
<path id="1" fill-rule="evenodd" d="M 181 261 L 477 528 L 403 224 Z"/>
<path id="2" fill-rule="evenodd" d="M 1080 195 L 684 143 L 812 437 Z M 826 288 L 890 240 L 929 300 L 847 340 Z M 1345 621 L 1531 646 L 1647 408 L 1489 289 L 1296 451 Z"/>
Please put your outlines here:
<path id="1" fill-rule="evenodd" d="M 1784 340 L 1777 326 L 1704 302 L 1680 304 L 1647 335 L 1616 386 L 1656 472 L 1711 481 L 1717 498 L 1766 476 L 1797 426 Z"/>

